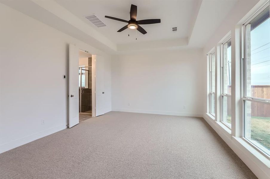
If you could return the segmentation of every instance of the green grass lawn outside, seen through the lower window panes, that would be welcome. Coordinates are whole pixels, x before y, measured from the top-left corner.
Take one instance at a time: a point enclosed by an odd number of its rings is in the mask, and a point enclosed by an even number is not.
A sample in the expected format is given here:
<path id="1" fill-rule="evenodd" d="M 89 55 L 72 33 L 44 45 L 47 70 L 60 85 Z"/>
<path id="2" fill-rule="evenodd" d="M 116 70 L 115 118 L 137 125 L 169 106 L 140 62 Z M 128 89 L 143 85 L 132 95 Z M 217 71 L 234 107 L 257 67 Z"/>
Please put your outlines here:
<path id="1" fill-rule="evenodd" d="M 231 116 L 227 122 L 231 124 Z M 251 139 L 270 149 L 270 118 L 251 117 Z"/>

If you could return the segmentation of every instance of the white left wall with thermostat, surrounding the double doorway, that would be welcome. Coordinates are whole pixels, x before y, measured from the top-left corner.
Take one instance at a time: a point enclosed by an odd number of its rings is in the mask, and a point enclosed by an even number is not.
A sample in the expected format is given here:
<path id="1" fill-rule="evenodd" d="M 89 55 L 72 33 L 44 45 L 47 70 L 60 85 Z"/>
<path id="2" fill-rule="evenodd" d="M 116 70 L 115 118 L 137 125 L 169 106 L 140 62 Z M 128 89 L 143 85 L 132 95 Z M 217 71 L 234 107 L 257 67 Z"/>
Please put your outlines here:
<path id="1" fill-rule="evenodd" d="M 69 43 L 105 57 L 111 100 L 110 55 L 1 3 L 0 24 L 0 153 L 66 128 Z"/>

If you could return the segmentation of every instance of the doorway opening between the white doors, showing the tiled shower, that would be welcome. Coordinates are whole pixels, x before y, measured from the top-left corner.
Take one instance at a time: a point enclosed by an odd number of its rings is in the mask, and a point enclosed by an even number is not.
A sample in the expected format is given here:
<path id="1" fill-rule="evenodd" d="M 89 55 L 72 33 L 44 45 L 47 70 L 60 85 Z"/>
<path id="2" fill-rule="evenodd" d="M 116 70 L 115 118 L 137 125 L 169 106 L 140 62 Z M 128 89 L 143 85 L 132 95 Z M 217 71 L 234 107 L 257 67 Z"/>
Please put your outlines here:
<path id="1" fill-rule="evenodd" d="M 79 50 L 79 122 L 92 117 L 92 54 Z"/>

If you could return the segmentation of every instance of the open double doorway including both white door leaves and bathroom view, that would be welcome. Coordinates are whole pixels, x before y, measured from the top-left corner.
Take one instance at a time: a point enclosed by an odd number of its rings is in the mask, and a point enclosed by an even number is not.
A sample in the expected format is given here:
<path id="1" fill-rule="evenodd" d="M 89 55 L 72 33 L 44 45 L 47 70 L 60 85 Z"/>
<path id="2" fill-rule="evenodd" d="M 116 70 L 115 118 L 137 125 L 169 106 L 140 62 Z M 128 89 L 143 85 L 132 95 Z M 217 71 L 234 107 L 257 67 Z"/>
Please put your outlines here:
<path id="1" fill-rule="evenodd" d="M 79 63 L 80 58 L 84 60 Z M 110 98 L 105 86 L 104 57 L 92 55 L 79 50 L 75 44 L 69 44 L 68 62 L 68 127 L 71 128 L 80 121 L 109 112 Z M 85 96 L 88 101 L 84 101 Z"/>

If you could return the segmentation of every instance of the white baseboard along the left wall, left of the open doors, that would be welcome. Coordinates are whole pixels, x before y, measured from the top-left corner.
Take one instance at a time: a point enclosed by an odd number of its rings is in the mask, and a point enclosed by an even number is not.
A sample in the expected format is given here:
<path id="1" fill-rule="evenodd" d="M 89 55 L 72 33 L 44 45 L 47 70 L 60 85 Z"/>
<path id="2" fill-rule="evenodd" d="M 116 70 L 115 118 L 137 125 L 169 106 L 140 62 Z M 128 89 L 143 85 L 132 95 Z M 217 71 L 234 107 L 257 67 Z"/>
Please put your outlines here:
<path id="1" fill-rule="evenodd" d="M 47 129 L 47 130 L 32 134 L 32 135 L 28 135 L 28 136 L 26 136 L 24 138 L 20 138 L 20 139 L 18 139 L 16 141 L 12 141 L 12 142 L 9 142 L 9 143 L 4 143 L 4 144 L 2 144 L 0 146 L 0 153 L 6 152 L 6 151 L 8 151 L 10 149 L 14 149 L 14 148 L 16 148 L 18 146 L 21 146 L 21 145 L 24 145 L 26 143 L 35 141 L 35 140 L 37 140 L 39 138 L 45 137 L 47 135 L 53 134 L 55 132 L 58 132 L 60 130 L 66 129 L 66 128 L 67 128 L 66 125 L 59 125 L 59 126 L 56 126 L 56 127 L 53 127 L 53 128 L 50 128 L 50 129 Z"/>

